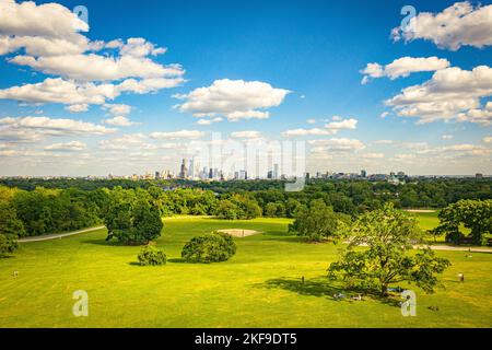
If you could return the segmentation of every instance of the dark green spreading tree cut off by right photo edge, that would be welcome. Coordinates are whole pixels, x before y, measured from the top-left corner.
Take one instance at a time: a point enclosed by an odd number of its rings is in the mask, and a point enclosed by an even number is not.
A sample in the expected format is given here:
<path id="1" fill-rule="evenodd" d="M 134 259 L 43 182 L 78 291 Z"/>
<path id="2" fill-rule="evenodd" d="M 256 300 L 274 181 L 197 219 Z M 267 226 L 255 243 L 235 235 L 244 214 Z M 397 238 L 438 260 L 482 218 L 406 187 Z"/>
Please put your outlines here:
<path id="1" fill-rule="evenodd" d="M 470 230 L 475 244 L 487 244 L 487 233 L 492 232 L 492 200 L 459 200 L 440 212 L 435 235 L 445 234 L 448 242 L 459 244 L 464 234 L 460 225 Z"/>

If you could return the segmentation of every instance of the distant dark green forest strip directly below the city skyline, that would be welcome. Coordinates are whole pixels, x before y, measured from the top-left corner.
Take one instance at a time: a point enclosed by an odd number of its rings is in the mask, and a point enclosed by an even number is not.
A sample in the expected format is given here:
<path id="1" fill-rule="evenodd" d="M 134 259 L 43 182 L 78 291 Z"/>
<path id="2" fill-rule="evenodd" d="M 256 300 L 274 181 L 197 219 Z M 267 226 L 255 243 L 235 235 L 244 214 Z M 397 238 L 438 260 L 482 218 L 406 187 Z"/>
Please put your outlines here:
<path id="1" fill-rule="evenodd" d="M 289 199 L 304 205 L 313 199 L 323 198 L 336 211 L 354 214 L 366 210 L 382 208 L 390 201 L 396 208 L 444 208 L 460 199 L 492 199 L 492 179 L 473 178 L 418 178 L 406 184 L 394 185 L 388 182 L 370 182 L 361 179 L 311 179 L 304 190 L 285 192 L 283 180 L 229 180 L 194 182 L 180 179 L 130 180 L 130 179 L 82 179 L 82 178 L 2 178 L 0 185 L 34 190 L 37 187 L 50 189 L 96 190 L 121 187 L 124 189 L 150 189 L 160 187 L 164 190 L 195 188 L 224 195 L 233 192 L 254 192 L 263 213 L 268 215 L 289 217 L 284 208 Z M 267 203 L 274 202 L 269 206 Z M 282 206 L 283 205 L 283 206 Z"/>

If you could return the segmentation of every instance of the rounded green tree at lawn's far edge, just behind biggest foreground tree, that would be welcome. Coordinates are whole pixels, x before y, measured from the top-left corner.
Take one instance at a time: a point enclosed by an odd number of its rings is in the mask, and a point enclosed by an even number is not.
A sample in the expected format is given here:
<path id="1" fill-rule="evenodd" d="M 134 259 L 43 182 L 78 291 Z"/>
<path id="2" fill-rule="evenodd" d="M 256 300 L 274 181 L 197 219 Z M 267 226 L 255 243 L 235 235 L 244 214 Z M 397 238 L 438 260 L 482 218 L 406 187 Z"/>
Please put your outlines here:
<path id="1" fill-rule="evenodd" d="M 302 207 L 295 213 L 295 221 L 289 226 L 290 232 L 306 237 L 309 242 L 336 238 L 349 217 L 337 213 L 323 199 L 316 199 L 309 207 Z"/>

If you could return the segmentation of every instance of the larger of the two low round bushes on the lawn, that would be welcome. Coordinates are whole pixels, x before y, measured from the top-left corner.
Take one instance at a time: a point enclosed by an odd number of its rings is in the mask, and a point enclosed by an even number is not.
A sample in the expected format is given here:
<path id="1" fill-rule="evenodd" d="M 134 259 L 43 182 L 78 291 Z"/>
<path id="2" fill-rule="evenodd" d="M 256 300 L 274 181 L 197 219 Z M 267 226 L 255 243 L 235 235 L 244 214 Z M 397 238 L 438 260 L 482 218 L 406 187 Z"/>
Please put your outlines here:
<path id="1" fill-rule="evenodd" d="M 213 232 L 192 237 L 181 250 L 181 257 L 188 262 L 220 262 L 236 254 L 236 244 L 231 235 Z"/>

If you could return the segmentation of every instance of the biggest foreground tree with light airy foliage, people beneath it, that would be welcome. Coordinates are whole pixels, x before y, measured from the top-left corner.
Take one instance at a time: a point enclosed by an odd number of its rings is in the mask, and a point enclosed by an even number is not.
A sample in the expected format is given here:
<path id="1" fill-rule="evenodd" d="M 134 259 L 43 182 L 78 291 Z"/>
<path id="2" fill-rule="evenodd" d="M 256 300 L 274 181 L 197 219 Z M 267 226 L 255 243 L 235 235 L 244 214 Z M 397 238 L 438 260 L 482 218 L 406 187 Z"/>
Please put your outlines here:
<path id="1" fill-rule="evenodd" d="M 438 283 L 437 275 L 449 261 L 429 248 L 411 254 L 412 243 L 420 236 L 415 220 L 387 203 L 361 215 L 351 225 L 350 243 L 339 260 L 330 265 L 329 276 L 343 280 L 350 288 L 383 295 L 391 283 L 402 281 L 432 293 Z"/>

